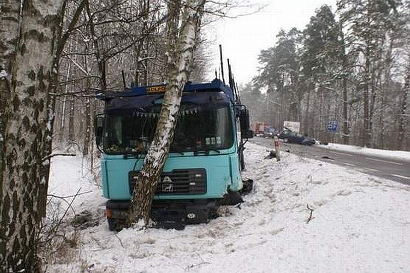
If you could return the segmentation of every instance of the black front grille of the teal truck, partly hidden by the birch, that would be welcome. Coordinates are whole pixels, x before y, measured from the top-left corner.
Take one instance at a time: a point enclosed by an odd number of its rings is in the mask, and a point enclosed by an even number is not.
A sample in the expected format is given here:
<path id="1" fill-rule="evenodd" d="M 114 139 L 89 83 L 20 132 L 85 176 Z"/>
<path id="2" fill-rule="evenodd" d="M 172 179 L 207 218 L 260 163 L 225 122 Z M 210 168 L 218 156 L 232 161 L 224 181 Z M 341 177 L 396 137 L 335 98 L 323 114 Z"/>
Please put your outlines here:
<path id="1" fill-rule="evenodd" d="M 134 190 L 139 171 L 129 172 L 130 194 Z M 207 172 L 205 169 L 173 170 L 162 173 L 155 195 L 205 194 L 207 193 Z"/>

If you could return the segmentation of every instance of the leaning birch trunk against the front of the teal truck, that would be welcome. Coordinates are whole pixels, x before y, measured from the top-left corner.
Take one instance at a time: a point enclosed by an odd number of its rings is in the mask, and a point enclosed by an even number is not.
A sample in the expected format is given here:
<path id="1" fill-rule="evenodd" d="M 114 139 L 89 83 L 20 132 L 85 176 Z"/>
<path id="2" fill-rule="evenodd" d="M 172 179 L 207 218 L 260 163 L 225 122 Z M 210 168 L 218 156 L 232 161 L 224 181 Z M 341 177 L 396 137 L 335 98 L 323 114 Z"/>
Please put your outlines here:
<path id="1" fill-rule="evenodd" d="M 183 6 L 181 22 L 179 22 L 181 3 L 168 2 L 167 92 L 162 103 L 154 139 L 138 175 L 138 182 L 135 184 L 129 209 L 129 224 L 140 220 L 144 221 L 145 225 L 148 224 L 154 192 L 174 136 L 182 90 L 188 80 L 192 65 L 205 3 L 206 0 L 187 0 Z"/>

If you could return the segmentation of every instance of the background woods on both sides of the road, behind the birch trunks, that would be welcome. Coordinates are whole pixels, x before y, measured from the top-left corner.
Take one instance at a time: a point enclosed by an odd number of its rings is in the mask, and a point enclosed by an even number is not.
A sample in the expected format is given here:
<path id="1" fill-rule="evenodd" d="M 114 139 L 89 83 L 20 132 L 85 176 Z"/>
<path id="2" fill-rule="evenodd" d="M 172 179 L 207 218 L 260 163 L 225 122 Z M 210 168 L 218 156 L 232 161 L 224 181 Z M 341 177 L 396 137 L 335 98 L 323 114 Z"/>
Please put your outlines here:
<path id="1" fill-rule="evenodd" d="M 95 92 L 121 90 L 122 71 L 127 86 L 166 79 L 166 9 L 152 0 L 70 2 L 54 94 L 54 143 L 87 155 L 94 149 Z M 322 141 L 409 150 L 409 5 L 343 0 L 335 13 L 319 7 L 302 31 L 281 30 L 276 44 L 259 54 L 259 75 L 241 87 L 252 120 L 279 129 L 283 120 L 300 121 L 301 133 Z M 208 79 L 210 51 L 202 39 L 191 81 Z M 338 121 L 336 134 L 326 130 L 329 120 Z"/>

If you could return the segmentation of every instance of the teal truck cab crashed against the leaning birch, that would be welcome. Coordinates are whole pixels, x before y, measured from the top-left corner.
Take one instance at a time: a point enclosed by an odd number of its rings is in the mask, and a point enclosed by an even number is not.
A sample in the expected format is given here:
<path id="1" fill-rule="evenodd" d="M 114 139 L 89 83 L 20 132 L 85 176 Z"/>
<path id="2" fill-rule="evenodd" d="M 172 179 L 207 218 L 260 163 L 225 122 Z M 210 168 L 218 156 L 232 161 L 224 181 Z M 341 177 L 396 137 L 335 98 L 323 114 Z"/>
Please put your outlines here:
<path id="1" fill-rule="evenodd" d="M 102 152 L 101 178 L 110 230 L 127 219 L 138 172 L 144 163 L 163 100 L 165 86 L 134 87 L 100 93 L 104 114 L 95 119 Z M 236 92 L 219 79 L 187 83 L 174 139 L 154 195 L 154 222 L 179 226 L 207 223 L 221 204 L 237 204 L 242 180 L 243 145 L 253 137 L 249 112 Z"/>

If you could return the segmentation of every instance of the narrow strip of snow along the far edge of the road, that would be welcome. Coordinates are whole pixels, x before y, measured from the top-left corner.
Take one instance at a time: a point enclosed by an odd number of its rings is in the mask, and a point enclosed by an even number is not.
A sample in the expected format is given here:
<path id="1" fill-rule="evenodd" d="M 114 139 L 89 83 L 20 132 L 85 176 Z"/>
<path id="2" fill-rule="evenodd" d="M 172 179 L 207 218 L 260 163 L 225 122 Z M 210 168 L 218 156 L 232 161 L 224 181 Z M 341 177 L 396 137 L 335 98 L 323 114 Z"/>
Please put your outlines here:
<path id="1" fill-rule="evenodd" d="M 360 146 L 344 145 L 337 143 L 329 143 L 328 145 L 318 145 L 317 147 L 330 149 L 335 151 L 346 151 L 356 154 L 372 155 L 391 159 L 400 159 L 410 161 L 410 152 L 406 151 L 389 151 L 380 149 L 371 149 Z"/>

